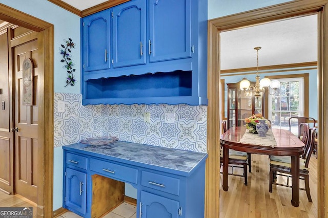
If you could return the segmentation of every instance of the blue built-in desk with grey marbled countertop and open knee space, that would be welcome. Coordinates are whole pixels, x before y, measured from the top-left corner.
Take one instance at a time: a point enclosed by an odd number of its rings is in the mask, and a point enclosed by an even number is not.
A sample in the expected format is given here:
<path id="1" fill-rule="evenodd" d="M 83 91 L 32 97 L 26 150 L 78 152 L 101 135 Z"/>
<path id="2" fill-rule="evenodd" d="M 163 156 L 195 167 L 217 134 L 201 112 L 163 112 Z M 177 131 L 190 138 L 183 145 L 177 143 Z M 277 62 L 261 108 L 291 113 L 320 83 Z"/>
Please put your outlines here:
<path id="1" fill-rule="evenodd" d="M 82 217 L 101 217 L 124 202 L 124 183 L 137 189 L 138 218 L 204 217 L 207 154 L 121 141 L 63 149 L 63 207 Z"/>

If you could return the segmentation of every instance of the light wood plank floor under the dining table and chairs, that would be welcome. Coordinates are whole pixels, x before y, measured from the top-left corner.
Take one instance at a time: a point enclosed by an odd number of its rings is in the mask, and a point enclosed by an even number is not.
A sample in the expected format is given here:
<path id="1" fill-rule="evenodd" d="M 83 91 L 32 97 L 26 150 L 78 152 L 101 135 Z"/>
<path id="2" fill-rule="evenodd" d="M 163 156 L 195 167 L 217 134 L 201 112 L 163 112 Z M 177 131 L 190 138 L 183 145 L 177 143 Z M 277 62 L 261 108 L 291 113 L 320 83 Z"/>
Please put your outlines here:
<path id="1" fill-rule="evenodd" d="M 244 185 L 244 178 L 230 176 L 229 190 L 222 189 L 222 174 L 220 187 L 220 218 L 234 217 L 317 217 L 317 159 L 312 155 L 310 159 L 310 189 L 312 203 L 308 201 L 306 192 L 300 190 L 300 205 L 291 205 L 292 189 L 273 185 L 269 192 L 269 158 L 265 155 L 252 154 L 252 172 L 248 172 L 248 185 Z M 242 173 L 242 169 L 239 172 Z M 237 171 L 235 171 L 237 172 Z M 286 181 L 279 177 L 278 182 Z M 290 180 L 290 184 L 291 184 Z M 300 187 L 304 181 L 300 180 Z"/>

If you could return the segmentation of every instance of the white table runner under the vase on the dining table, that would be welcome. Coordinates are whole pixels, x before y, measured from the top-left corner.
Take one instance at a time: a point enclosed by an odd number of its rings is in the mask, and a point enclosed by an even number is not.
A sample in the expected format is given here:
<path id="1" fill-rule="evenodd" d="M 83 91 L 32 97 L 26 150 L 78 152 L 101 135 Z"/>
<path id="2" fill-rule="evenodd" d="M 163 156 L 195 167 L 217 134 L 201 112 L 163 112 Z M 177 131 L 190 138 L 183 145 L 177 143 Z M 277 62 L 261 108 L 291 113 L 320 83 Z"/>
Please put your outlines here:
<path id="1" fill-rule="evenodd" d="M 268 130 L 265 137 L 260 137 L 258 134 L 253 134 L 246 131 L 239 142 L 243 144 L 265 145 L 271 147 L 277 146 L 277 142 L 271 129 Z"/>

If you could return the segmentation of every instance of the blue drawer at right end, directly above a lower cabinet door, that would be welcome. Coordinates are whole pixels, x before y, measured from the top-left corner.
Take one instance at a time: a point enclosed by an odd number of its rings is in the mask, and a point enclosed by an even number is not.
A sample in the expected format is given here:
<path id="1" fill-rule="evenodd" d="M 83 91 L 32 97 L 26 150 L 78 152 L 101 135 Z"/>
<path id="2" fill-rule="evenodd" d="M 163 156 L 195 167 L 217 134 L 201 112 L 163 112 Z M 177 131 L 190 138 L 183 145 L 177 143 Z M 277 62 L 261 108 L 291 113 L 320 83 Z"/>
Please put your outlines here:
<path id="1" fill-rule="evenodd" d="M 177 178 L 141 171 L 141 185 L 178 196 L 180 195 L 180 180 Z"/>

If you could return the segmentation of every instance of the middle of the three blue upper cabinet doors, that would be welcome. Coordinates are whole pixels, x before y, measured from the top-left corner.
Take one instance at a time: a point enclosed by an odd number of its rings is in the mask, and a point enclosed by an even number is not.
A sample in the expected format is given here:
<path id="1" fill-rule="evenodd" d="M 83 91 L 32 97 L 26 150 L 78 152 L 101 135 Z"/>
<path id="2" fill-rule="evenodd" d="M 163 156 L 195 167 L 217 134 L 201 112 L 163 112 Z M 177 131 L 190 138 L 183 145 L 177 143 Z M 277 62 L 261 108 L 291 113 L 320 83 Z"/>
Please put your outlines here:
<path id="1" fill-rule="evenodd" d="M 146 64 L 146 1 L 113 8 L 113 68 Z"/>

